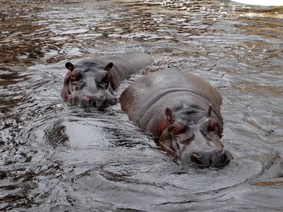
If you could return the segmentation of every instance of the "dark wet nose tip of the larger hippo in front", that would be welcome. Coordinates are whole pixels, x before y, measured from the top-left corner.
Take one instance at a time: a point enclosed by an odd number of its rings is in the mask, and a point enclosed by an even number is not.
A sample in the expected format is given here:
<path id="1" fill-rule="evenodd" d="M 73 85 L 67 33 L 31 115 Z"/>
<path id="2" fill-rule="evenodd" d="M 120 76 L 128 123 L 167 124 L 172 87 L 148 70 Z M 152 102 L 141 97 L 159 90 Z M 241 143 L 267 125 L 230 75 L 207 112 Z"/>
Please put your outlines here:
<path id="1" fill-rule="evenodd" d="M 224 167 L 230 163 L 233 156 L 223 148 L 216 148 L 212 151 L 192 151 L 187 153 L 184 159 L 197 167 Z"/>

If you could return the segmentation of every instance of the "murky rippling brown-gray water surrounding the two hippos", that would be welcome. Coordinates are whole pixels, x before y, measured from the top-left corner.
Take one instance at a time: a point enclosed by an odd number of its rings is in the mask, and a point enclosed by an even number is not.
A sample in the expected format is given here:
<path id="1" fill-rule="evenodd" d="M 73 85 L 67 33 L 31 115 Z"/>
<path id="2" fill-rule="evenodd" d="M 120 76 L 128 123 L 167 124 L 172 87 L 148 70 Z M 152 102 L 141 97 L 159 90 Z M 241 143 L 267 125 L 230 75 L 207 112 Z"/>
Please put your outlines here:
<path id="1" fill-rule="evenodd" d="M 1 1 L 0 211 L 282 211 L 283 8 L 229 1 Z M 64 63 L 129 50 L 215 86 L 221 170 L 158 151 L 120 105 L 59 98 Z"/>

